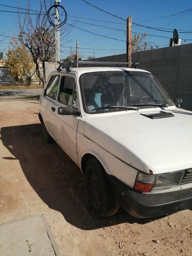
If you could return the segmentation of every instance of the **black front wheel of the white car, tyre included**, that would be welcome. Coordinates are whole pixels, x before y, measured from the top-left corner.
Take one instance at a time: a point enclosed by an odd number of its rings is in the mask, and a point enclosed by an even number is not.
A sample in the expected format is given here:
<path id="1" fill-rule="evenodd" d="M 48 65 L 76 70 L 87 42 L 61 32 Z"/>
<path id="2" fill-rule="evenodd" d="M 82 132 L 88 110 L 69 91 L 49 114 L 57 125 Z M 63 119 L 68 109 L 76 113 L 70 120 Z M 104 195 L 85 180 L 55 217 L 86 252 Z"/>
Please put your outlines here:
<path id="1" fill-rule="evenodd" d="M 87 162 L 85 179 L 90 206 L 96 215 L 99 217 L 114 215 L 119 205 L 116 203 L 105 170 L 94 157 Z"/>

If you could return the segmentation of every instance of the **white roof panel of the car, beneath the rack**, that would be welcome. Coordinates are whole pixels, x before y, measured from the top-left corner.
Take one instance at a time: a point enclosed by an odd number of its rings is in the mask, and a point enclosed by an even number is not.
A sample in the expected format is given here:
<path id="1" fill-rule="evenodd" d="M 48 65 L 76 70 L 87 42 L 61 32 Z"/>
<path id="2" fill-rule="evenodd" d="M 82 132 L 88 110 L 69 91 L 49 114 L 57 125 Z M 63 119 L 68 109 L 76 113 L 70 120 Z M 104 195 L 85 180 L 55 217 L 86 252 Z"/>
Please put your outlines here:
<path id="1" fill-rule="evenodd" d="M 132 71 L 132 72 L 145 72 L 150 73 L 147 70 L 127 67 L 74 67 L 71 68 L 69 74 L 75 74 L 81 76 L 84 73 L 101 72 L 101 71 Z M 67 73 L 65 69 L 61 70 L 61 74 Z M 58 71 L 53 71 L 51 75 L 58 74 Z"/>

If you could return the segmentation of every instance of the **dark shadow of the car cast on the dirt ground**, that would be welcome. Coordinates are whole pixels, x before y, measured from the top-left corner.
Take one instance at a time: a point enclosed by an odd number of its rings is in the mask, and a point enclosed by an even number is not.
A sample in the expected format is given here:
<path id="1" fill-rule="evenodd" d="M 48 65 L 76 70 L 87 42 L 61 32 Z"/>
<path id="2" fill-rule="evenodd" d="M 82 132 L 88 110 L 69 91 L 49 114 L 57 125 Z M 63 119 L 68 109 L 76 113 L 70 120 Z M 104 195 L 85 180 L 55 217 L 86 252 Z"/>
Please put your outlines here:
<path id="1" fill-rule="evenodd" d="M 156 219 L 134 218 L 123 209 L 110 218 L 94 218 L 89 210 L 84 175 L 56 143 L 44 142 L 41 124 L 3 127 L 0 134 L 3 145 L 13 155 L 2 155 L 3 159 L 19 160 L 35 192 L 70 224 L 93 230 L 125 222 L 145 224 Z"/>

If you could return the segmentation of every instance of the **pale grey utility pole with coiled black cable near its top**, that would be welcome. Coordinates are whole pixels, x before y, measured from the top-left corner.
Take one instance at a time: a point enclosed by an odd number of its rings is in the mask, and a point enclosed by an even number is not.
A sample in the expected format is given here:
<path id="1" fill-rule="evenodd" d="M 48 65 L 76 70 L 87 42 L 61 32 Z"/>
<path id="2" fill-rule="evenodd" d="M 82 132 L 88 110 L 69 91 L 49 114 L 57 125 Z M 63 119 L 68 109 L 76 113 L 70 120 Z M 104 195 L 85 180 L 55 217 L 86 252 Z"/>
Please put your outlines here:
<path id="1" fill-rule="evenodd" d="M 61 3 L 61 0 L 55 0 L 55 55 L 56 63 L 60 61 L 60 32 L 59 32 L 59 15 L 57 5 Z"/>

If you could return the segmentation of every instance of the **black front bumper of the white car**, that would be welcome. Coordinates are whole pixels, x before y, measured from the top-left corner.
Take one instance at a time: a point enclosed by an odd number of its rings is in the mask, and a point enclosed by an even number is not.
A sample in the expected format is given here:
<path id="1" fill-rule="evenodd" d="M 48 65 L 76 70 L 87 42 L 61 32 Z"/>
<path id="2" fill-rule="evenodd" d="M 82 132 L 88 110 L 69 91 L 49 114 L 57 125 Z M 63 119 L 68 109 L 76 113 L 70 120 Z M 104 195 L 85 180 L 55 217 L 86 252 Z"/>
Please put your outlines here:
<path id="1" fill-rule="evenodd" d="M 137 218 L 158 217 L 192 209 L 192 188 L 164 193 L 139 193 L 116 177 L 108 175 L 118 203 Z"/>

